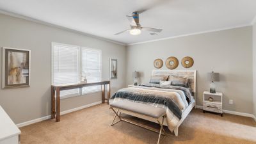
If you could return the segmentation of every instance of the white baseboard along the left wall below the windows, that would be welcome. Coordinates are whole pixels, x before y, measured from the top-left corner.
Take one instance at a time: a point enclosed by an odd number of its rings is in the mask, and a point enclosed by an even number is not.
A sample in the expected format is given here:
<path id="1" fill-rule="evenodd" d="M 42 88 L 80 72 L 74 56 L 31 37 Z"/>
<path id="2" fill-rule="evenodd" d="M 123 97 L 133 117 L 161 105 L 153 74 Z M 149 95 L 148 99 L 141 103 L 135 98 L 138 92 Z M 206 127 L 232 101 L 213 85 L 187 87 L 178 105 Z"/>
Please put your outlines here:
<path id="1" fill-rule="evenodd" d="M 78 111 L 80 109 L 84 109 L 84 108 L 88 108 L 88 107 L 91 107 L 91 106 L 95 106 L 97 104 L 101 104 L 101 101 L 99 102 L 93 102 L 92 104 L 86 104 L 84 106 L 80 106 L 78 108 L 74 108 L 74 109 L 68 109 L 67 111 L 61 111 L 60 112 L 60 115 L 65 115 L 67 113 L 71 113 L 73 111 Z M 41 117 L 41 118 L 36 118 L 34 120 L 29 120 L 28 122 L 22 122 L 20 124 L 17 124 L 17 127 L 24 127 L 26 125 L 31 125 L 31 124 L 35 124 L 36 122 L 42 122 L 44 120 L 48 120 L 51 118 L 51 115 L 47 115 L 47 116 L 44 116 L 44 117 Z"/>

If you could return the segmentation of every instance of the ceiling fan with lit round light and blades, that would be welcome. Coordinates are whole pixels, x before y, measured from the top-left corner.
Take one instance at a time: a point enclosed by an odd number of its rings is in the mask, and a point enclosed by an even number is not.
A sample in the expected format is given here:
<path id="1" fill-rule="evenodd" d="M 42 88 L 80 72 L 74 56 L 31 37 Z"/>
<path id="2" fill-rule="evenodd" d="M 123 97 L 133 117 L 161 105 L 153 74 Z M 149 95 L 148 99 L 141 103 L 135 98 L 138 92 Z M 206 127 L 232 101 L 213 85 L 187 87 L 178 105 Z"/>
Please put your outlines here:
<path id="1" fill-rule="evenodd" d="M 147 28 L 147 27 L 142 27 L 140 25 L 140 20 L 139 20 L 139 14 L 141 12 L 133 12 L 131 16 L 126 15 L 127 19 L 129 20 L 131 24 L 130 29 L 126 29 L 125 31 L 121 31 L 119 33 L 116 33 L 115 35 L 119 35 L 121 33 L 124 33 L 126 31 L 129 31 L 131 35 L 140 35 L 141 31 L 150 31 L 150 35 L 157 35 L 160 33 L 163 29 L 156 29 L 156 28 Z"/>

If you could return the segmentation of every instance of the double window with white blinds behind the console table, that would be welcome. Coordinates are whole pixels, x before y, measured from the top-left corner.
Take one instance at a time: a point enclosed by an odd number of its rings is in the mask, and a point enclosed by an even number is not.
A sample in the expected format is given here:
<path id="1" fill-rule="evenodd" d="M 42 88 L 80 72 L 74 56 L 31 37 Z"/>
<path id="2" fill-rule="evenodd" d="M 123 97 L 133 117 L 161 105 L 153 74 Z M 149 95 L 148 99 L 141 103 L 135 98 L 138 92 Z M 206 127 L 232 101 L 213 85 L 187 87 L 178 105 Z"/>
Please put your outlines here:
<path id="1" fill-rule="evenodd" d="M 86 76 L 88 83 L 101 81 L 101 51 L 76 45 L 52 43 L 52 84 L 77 83 Z M 61 97 L 99 92 L 100 86 L 62 90 Z"/>

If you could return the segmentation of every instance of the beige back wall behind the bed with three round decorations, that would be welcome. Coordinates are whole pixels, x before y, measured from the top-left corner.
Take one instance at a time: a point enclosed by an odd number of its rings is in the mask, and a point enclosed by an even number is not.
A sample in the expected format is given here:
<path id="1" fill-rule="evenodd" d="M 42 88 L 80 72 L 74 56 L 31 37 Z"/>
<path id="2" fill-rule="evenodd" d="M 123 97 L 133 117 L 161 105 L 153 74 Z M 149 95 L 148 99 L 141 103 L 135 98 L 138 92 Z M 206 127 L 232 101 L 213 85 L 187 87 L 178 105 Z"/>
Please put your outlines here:
<path id="1" fill-rule="evenodd" d="M 221 74 L 216 91 L 224 94 L 223 108 L 253 113 L 252 26 L 130 45 L 126 52 L 126 84 L 132 84 L 134 70 L 141 73 L 142 83 L 148 83 L 156 58 L 165 61 L 169 56 L 175 56 L 180 61 L 184 56 L 191 56 L 195 64 L 188 70 L 197 70 L 197 105 L 202 106 L 202 93 L 209 90 L 206 74 L 214 70 Z M 167 68 L 164 65 L 161 69 Z M 179 64 L 176 70 L 185 69 Z M 234 104 L 228 104 L 229 99 L 233 99 Z"/>

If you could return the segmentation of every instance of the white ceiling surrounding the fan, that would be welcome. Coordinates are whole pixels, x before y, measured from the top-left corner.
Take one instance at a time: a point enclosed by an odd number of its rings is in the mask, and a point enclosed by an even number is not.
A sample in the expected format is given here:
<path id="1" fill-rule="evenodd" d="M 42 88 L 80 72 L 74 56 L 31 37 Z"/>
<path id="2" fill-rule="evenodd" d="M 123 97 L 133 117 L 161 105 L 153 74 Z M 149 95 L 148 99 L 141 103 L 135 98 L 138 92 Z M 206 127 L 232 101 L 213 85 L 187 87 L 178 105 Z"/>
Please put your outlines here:
<path id="1" fill-rule="evenodd" d="M 124 33 L 125 15 L 140 15 L 142 26 L 163 29 L 159 35 Z M 0 10 L 133 44 L 159 38 L 245 26 L 256 15 L 255 0 L 0 0 Z"/>

